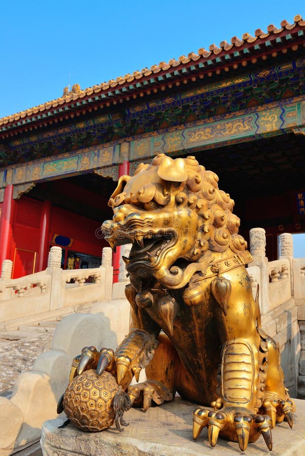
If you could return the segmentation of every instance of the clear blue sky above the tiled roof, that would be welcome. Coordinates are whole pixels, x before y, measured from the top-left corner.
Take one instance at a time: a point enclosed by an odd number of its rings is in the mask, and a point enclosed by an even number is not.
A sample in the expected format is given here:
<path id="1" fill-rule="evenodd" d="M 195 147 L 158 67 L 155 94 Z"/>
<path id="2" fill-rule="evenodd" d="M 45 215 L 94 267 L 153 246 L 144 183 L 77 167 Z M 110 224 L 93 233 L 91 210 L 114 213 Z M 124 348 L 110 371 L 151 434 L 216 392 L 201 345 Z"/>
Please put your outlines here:
<path id="1" fill-rule="evenodd" d="M 296 14 L 305 0 L 3 1 L 0 118 Z"/>

